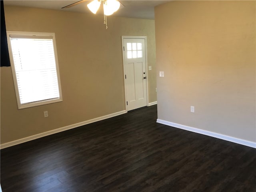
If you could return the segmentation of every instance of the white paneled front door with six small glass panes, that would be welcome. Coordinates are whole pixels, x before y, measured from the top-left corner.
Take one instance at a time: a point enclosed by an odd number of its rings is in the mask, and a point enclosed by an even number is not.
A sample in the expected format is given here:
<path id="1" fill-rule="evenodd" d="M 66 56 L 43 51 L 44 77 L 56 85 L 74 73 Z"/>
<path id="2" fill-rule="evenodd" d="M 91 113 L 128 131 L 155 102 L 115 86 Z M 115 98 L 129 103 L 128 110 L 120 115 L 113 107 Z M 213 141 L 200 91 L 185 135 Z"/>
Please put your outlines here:
<path id="1" fill-rule="evenodd" d="M 147 106 L 146 38 L 123 38 L 127 110 Z"/>

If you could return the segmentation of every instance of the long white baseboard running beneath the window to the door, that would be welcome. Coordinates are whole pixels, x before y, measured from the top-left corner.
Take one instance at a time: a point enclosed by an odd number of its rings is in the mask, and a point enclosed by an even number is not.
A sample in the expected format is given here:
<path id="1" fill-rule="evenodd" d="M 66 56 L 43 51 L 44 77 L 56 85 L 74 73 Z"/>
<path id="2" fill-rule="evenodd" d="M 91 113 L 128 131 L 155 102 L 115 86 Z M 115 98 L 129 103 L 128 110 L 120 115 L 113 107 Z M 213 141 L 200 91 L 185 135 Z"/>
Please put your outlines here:
<path id="1" fill-rule="evenodd" d="M 94 123 L 94 122 L 101 121 L 101 120 L 104 120 L 104 119 L 108 119 L 108 118 L 111 118 L 111 117 L 115 117 L 115 116 L 118 116 L 118 115 L 122 115 L 122 114 L 125 114 L 125 113 L 127 113 L 126 110 L 123 110 L 123 111 L 120 111 L 120 112 L 116 112 L 116 113 L 112 113 L 112 114 L 109 114 L 109 115 L 97 117 L 97 118 L 94 118 L 94 119 L 90 119 L 90 120 L 87 120 L 87 121 L 84 121 L 84 122 L 68 125 L 68 126 L 65 126 L 65 127 L 57 128 L 57 129 L 54 129 L 54 130 L 50 130 L 50 131 L 46 131 L 46 132 L 39 133 L 39 134 L 36 134 L 36 135 L 28 136 L 28 137 L 25 137 L 25 138 L 22 138 L 22 139 L 18 139 L 18 140 L 15 140 L 15 141 L 7 142 L 7 143 L 4 143 L 4 144 L 1 144 L 0 149 L 4 149 L 4 148 L 10 147 L 10 146 L 18 145 L 18 144 L 28 142 L 28 141 L 31 141 L 31 140 L 34 140 L 34 139 L 38 139 L 38 138 L 41 138 L 41 137 L 44 137 L 44 136 L 52 135 L 52 134 L 55 134 L 55 133 L 59 133 L 59 132 L 62 132 L 62 131 L 73 129 L 73 128 L 83 126 L 83 125 L 86 125 L 86 124 L 90 124 L 90 123 Z"/>

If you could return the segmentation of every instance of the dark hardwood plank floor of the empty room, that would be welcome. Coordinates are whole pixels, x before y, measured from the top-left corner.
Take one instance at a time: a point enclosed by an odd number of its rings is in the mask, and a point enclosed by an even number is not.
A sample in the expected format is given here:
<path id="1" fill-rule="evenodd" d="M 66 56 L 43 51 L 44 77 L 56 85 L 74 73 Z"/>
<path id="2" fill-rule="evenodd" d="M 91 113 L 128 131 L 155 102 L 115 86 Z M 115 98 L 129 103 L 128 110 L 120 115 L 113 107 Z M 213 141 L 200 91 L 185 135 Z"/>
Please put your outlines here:
<path id="1" fill-rule="evenodd" d="M 150 106 L 2 149 L 2 190 L 256 191 L 256 149 L 156 118 Z"/>

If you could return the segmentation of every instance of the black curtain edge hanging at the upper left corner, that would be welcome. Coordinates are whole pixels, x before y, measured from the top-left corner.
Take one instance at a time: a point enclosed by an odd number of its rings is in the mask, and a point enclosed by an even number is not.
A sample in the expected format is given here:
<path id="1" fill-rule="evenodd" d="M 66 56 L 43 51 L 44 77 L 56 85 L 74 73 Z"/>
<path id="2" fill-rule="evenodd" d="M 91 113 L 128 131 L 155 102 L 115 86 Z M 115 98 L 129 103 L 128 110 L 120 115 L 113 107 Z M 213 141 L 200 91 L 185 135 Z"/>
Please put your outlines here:
<path id="1" fill-rule="evenodd" d="M 5 66 L 8 67 L 10 66 L 10 58 L 9 58 L 9 51 L 8 51 L 8 46 L 7 46 L 7 36 L 6 36 L 6 26 L 5 26 L 5 19 L 4 19 L 4 1 L 0 0 L 0 14 L 1 14 L 1 52 L 0 52 L 0 57 L 1 57 L 1 67 Z"/>

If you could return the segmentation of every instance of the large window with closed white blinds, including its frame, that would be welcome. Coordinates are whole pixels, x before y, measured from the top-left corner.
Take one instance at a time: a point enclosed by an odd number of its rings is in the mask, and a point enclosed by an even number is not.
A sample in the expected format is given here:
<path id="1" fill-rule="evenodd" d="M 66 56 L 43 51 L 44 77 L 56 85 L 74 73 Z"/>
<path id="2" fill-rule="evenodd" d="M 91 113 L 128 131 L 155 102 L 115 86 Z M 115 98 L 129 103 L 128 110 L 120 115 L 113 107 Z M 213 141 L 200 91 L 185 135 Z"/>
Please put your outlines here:
<path id="1" fill-rule="evenodd" d="M 18 108 L 62 101 L 54 33 L 7 32 Z"/>

